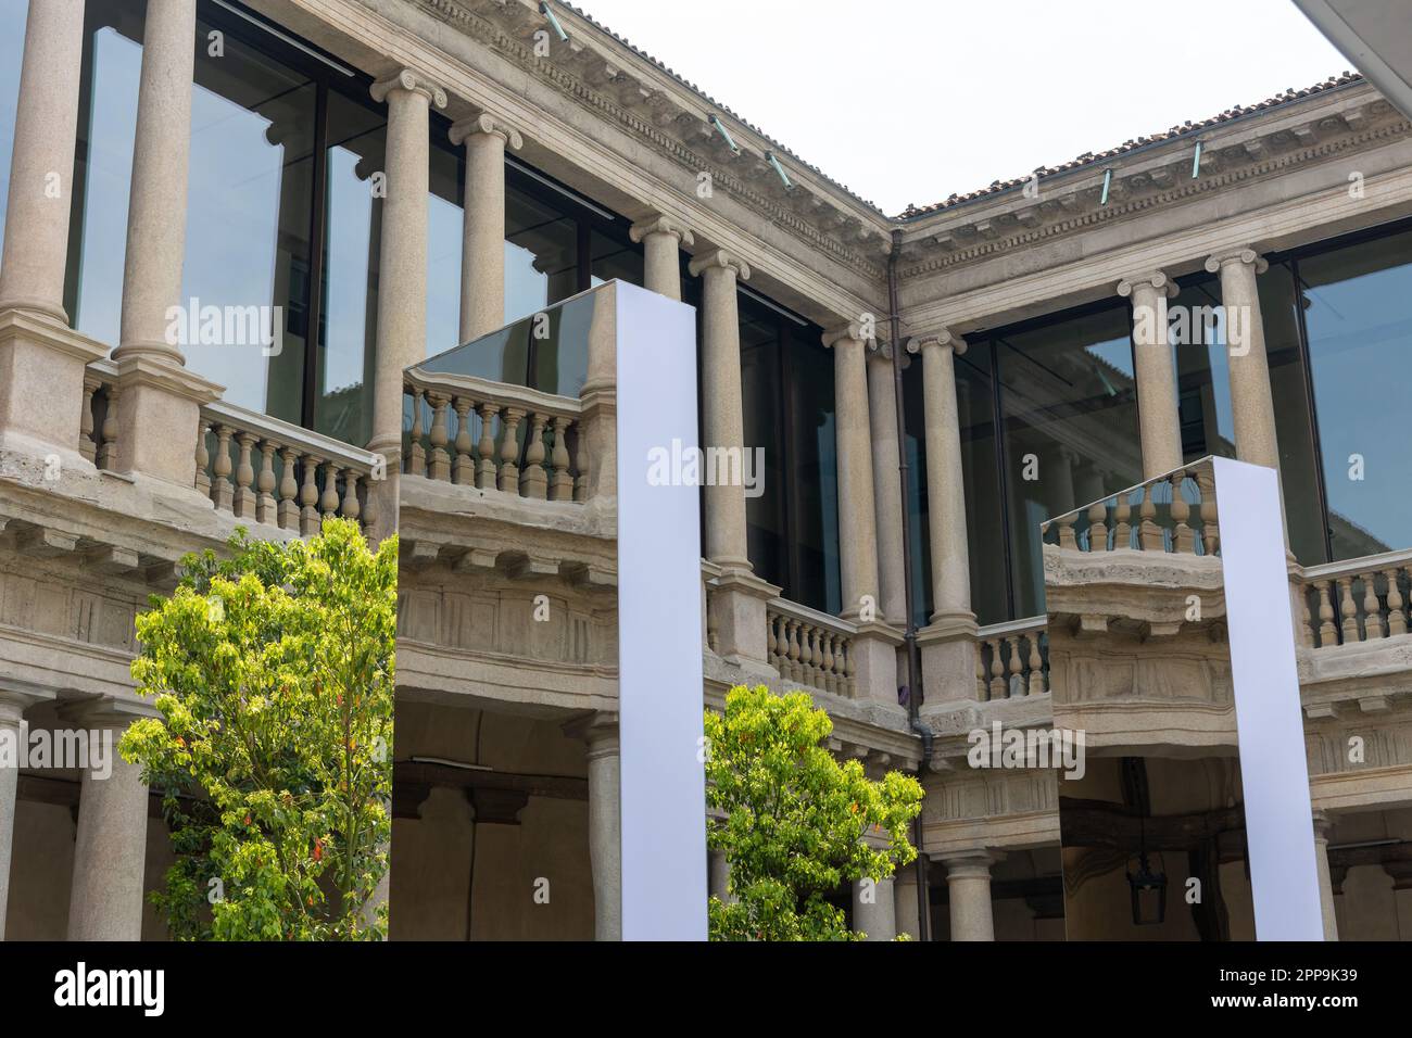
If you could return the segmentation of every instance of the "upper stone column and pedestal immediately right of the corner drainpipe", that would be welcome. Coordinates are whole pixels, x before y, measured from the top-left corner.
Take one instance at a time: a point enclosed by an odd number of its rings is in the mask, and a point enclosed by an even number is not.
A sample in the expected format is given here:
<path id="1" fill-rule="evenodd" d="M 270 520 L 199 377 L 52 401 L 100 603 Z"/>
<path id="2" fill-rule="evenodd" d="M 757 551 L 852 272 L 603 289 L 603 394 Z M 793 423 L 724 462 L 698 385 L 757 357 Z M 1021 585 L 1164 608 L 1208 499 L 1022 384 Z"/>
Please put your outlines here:
<path id="1" fill-rule="evenodd" d="M 976 614 L 970 607 L 966 487 L 956 410 L 955 357 L 966 340 L 942 329 L 912 339 L 922 354 L 926 417 L 928 538 L 932 548 L 932 621 L 919 634 L 922 685 L 932 702 L 970 699 L 976 689 Z"/>

